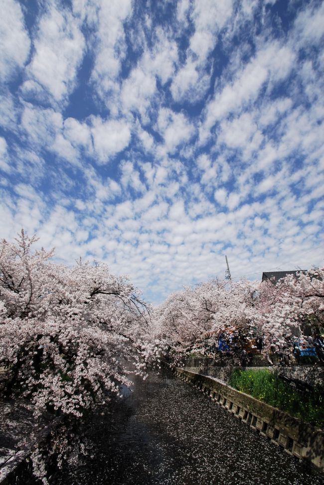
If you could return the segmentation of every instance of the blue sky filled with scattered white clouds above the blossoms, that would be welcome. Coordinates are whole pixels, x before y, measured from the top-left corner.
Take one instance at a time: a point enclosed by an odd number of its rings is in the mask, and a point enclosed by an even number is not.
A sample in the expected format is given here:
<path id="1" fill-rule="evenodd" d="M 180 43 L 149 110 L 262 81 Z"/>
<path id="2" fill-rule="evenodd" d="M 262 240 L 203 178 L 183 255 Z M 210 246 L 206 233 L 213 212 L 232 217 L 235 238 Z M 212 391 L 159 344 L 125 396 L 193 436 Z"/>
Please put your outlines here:
<path id="1" fill-rule="evenodd" d="M 324 4 L 2 0 L 0 226 L 182 285 L 324 264 Z"/>

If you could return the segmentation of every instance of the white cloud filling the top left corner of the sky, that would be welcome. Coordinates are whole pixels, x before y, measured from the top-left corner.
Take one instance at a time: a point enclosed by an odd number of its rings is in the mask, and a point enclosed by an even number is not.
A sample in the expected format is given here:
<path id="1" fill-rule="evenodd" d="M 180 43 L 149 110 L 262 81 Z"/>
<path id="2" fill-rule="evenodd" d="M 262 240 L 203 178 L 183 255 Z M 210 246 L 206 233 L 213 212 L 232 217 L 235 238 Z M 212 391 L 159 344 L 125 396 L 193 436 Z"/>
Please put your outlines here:
<path id="1" fill-rule="evenodd" d="M 21 6 L 2 0 L 0 15 L 0 79 L 6 81 L 27 61 L 30 39 L 24 26 Z"/>

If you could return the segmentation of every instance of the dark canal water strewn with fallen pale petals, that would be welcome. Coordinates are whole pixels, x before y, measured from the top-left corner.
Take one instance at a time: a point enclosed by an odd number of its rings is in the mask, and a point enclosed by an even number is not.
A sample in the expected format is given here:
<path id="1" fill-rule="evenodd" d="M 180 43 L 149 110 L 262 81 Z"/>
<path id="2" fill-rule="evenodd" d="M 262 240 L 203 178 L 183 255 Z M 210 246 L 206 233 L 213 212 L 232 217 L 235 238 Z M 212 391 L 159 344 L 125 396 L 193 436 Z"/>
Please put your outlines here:
<path id="1" fill-rule="evenodd" d="M 133 378 L 133 392 L 95 415 L 92 456 L 57 485 L 323 484 L 305 464 L 172 374 Z"/>

